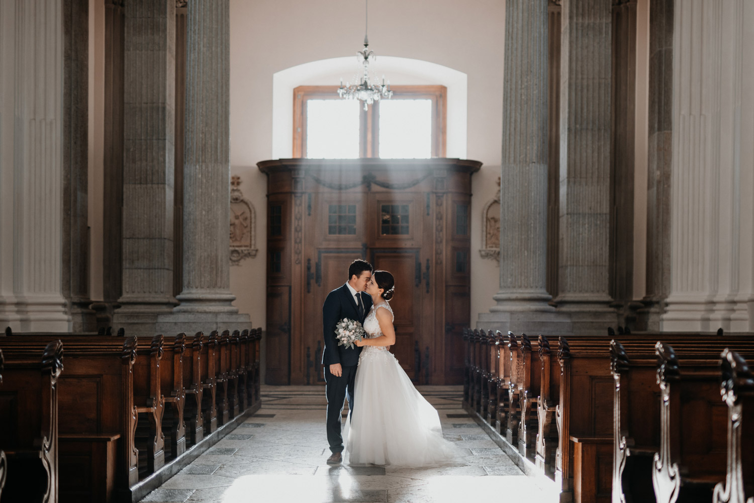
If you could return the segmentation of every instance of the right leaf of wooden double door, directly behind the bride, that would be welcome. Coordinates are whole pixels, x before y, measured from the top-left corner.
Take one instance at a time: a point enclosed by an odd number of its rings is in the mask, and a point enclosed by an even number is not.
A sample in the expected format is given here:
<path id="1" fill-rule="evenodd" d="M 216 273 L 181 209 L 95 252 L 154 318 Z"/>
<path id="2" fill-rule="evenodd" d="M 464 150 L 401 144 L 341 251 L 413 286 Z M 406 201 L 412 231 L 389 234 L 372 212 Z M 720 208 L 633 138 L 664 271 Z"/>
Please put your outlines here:
<path id="1" fill-rule="evenodd" d="M 372 265 L 376 270 L 389 271 L 395 278 L 395 291 L 390 305 L 395 321 L 395 344 L 390 348 L 414 382 L 424 382 L 417 350 L 421 341 L 421 262 L 419 250 L 370 250 Z"/>

